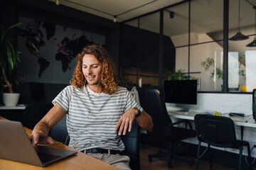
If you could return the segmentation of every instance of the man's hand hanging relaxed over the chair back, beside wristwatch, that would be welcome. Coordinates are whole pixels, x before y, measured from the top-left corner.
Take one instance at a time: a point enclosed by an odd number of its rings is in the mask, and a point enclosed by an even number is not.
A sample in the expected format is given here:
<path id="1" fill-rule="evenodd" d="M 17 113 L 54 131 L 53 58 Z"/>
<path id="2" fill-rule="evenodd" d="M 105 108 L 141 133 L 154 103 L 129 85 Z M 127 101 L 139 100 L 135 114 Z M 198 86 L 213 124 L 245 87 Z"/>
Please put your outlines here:
<path id="1" fill-rule="evenodd" d="M 135 108 L 129 108 L 128 111 L 126 111 L 118 120 L 118 122 L 114 123 L 116 124 L 116 127 L 114 128 L 115 131 L 118 130 L 118 135 L 125 135 L 127 132 L 127 128 L 129 126 L 128 131 L 131 132 L 132 130 L 132 122 L 135 118 L 135 115 L 137 115 L 138 111 Z"/>

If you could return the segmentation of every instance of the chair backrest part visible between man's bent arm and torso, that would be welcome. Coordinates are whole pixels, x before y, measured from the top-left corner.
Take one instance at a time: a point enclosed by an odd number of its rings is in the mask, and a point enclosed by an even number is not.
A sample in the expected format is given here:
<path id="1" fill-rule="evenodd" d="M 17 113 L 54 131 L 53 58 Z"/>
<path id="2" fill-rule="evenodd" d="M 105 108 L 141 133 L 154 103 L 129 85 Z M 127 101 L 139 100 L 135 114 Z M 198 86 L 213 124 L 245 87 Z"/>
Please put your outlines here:
<path id="1" fill-rule="evenodd" d="M 68 135 L 67 124 L 66 124 L 67 115 L 65 116 L 55 125 L 49 132 L 49 136 L 53 138 L 53 140 L 57 140 L 58 142 L 63 143 L 64 145 L 68 145 L 70 142 L 70 137 Z"/>

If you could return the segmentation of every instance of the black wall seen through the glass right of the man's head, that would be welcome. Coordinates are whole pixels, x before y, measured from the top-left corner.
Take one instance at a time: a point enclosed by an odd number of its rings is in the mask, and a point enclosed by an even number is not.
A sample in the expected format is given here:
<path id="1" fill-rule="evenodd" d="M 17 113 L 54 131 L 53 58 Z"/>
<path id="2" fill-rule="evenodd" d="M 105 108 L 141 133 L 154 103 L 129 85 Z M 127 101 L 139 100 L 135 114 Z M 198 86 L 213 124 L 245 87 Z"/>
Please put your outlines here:
<path id="1" fill-rule="evenodd" d="M 124 23 L 120 30 L 119 64 L 122 67 L 138 67 L 149 72 L 159 72 L 159 33 L 135 28 Z M 174 47 L 171 38 L 167 36 L 163 36 L 163 42 L 169 49 Z M 175 48 L 174 50 L 164 50 L 164 68 L 174 69 L 175 52 Z"/>

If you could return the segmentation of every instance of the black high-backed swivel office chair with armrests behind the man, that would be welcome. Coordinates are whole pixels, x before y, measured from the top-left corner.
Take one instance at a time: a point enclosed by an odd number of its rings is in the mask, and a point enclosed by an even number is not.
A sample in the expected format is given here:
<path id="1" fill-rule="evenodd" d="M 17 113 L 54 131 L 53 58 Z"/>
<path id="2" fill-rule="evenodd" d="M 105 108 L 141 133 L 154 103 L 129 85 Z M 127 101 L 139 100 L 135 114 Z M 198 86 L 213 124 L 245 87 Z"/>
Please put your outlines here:
<path id="1" fill-rule="evenodd" d="M 154 128 L 152 132 L 148 132 L 147 135 L 154 137 L 156 140 L 162 140 L 169 142 L 168 153 L 149 154 L 149 162 L 152 161 L 154 157 L 167 157 L 168 167 L 171 167 L 172 157 L 179 159 L 185 159 L 193 164 L 193 159 L 188 159 L 186 157 L 180 157 L 174 154 L 174 143 L 185 140 L 188 137 L 196 136 L 195 131 L 192 128 L 191 123 L 188 120 L 181 120 L 176 123 L 172 123 L 171 118 L 166 110 L 166 105 L 164 103 L 164 92 L 162 89 L 148 89 L 141 88 L 139 91 L 139 102 L 146 111 L 151 115 L 153 120 Z M 178 128 L 175 125 L 181 123 L 185 124 L 185 128 Z"/>

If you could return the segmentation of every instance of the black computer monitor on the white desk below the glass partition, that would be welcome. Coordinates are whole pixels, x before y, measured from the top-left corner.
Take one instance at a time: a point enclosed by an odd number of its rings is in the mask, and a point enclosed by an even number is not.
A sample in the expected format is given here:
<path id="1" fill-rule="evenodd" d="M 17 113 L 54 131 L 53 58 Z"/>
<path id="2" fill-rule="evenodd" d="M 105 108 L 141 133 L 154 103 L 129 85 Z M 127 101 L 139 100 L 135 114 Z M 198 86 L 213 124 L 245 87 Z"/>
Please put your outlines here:
<path id="1" fill-rule="evenodd" d="M 197 80 L 164 81 L 166 103 L 197 104 Z"/>

